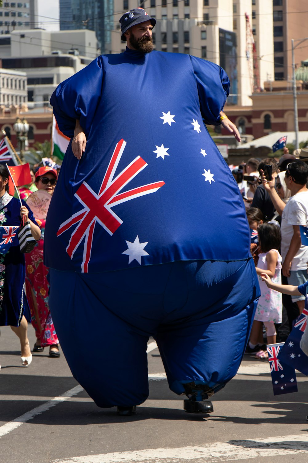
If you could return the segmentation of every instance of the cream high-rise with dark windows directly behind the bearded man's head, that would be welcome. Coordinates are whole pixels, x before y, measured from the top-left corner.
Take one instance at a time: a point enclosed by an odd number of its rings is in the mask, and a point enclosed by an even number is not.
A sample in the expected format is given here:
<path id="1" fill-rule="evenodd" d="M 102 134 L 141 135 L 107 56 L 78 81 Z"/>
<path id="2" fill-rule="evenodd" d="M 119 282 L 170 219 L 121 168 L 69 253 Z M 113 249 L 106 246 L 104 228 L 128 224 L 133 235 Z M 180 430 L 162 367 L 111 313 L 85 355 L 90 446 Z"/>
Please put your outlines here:
<path id="1" fill-rule="evenodd" d="M 256 64 L 260 87 L 268 75 L 274 75 L 271 0 L 115 0 L 113 53 L 125 50 L 126 46 L 120 38 L 121 15 L 138 6 L 157 19 L 153 30 L 157 50 L 189 53 L 219 64 L 227 71 L 231 81 L 227 104 L 252 104 L 249 95 L 254 90 L 254 75 L 250 75 L 249 70 L 255 73 Z M 246 14 L 255 42 L 255 56 L 247 53 Z"/>

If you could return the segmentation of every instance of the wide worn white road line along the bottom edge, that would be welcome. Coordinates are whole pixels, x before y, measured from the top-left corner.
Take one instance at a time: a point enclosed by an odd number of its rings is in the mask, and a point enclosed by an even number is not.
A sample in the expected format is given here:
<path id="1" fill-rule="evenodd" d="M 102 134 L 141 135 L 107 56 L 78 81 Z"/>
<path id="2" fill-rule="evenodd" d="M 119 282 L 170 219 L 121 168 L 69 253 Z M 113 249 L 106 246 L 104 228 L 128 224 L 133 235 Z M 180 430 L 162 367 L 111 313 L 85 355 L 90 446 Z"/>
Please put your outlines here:
<path id="1" fill-rule="evenodd" d="M 221 463 L 256 457 L 308 453 L 308 434 L 266 439 L 234 440 L 177 449 L 146 449 L 132 452 L 103 453 L 85 457 L 53 460 L 52 463 L 170 463 L 196 460 L 198 463 Z"/>

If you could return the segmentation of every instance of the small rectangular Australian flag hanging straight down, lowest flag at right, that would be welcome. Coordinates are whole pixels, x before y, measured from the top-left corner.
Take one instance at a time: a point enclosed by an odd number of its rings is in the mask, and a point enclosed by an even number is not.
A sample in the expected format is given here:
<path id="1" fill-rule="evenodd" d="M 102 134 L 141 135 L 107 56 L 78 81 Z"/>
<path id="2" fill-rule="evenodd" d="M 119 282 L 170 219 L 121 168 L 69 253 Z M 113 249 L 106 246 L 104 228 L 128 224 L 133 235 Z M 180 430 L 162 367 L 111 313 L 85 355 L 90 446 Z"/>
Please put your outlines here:
<path id="1" fill-rule="evenodd" d="M 267 345 L 274 395 L 297 392 L 295 369 L 281 361 L 283 345 L 284 343 Z"/>

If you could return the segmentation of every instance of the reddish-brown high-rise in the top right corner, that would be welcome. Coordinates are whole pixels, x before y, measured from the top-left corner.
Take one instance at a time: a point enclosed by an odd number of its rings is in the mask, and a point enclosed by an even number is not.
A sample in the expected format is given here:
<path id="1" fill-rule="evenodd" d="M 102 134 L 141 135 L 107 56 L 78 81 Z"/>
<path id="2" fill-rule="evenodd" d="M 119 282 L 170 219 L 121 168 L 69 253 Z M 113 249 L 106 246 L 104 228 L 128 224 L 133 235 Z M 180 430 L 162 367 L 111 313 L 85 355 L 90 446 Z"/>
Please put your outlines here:
<path id="1" fill-rule="evenodd" d="M 307 0 L 273 0 L 275 80 L 292 80 L 291 39 L 296 46 L 307 37 L 307 6 Z M 307 44 L 296 48 L 296 66 L 307 59 Z"/>

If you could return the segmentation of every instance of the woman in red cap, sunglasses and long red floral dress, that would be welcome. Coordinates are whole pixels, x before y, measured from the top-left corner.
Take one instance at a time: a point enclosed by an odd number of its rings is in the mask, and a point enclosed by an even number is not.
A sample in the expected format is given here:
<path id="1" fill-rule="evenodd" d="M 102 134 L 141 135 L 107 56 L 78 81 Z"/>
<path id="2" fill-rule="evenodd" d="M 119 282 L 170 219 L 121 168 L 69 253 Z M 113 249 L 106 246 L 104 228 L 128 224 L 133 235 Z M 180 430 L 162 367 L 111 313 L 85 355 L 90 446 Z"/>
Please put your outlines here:
<path id="1" fill-rule="evenodd" d="M 58 173 L 49 166 L 41 167 L 35 175 L 36 188 L 53 194 Z M 49 346 L 49 357 L 60 357 L 59 341 L 48 305 L 48 268 L 43 263 L 45 220 L 36 219 L 42 231 L 42 238 L 33 251 L 26 254 L 26 291 L 31 310 L 31 323 L 36 332 L 33 352 L 42 352 Z"/>

